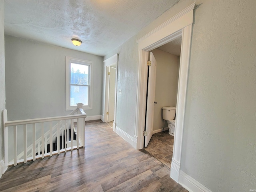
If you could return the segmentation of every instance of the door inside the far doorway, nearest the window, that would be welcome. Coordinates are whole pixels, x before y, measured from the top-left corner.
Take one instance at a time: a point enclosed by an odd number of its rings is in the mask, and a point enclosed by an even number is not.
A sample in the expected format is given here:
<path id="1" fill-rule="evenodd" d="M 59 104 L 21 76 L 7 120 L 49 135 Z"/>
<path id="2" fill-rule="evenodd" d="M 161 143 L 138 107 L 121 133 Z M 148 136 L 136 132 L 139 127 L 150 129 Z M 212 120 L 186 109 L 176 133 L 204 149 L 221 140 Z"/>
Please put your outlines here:
<path id="1" fill-rule="evenodd" d="M 115 112 L 115 88 L 116 88 L 116 68 L 110 67 L 109 91 L 108 91 L 108 122 L 114 121 Z"/>

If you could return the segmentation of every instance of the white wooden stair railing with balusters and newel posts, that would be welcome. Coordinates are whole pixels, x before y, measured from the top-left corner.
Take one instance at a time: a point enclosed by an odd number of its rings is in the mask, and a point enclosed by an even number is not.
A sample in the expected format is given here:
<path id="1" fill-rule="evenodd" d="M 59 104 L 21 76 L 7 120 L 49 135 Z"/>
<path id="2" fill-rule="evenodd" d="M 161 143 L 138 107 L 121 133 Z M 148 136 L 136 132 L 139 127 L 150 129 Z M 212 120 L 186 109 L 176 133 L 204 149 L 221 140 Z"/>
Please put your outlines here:
<path id="1" fill-rule="evenodd" d="M 60 154 L 61 152 L 66 152 L 68 150 L 73 150 L 75 148 L 80 148 L 85 146 L 85 118 L 86 113 L 82 109 L 82 104 L 77 104 L 78 108 L 73 112 L 78 112 L 78 114 L 71 114 L 67 116 L 57 116 L 57 117 L 48 117 L 48 118 L 36 118 L 36 119 L 27 119 L 27 120 L 15 120 L 8 121 L 7 110 L 3 110 L 3 119 L 4 119 L 4 158 L 6 169 L 10 165 L 16 166 L 20 162 L 26 163 L 29 160 L 36 160 L 38 158 L 44 158 L 45 156 L 52 156 L 54 154 Z M 68 129 L 69 124 L 71 129 L 74 126 L 74 121 L 77 122 L 77 133 L 76 133 L 76 142 L 74 142 L 73 131 L 71 131 L 71 142 L 70 147 L 67 147 L 68 143 Z M 53 122 L 56 123 L 56 132 L 54 132 Z M 48 126 L 45 126 L 47 124 Z M 62 126 L 61 126 L 62 124 Z M 31 129 L 32 132 L 32 155 L 28 156 L 28 129 Z M 41 136 L 36 140 L 36 129 L 39 130 Z M 45 129 L 48 129 L 45 132 Z M 23 131 L 22 131 L 23 130 Z M 12 133 L 13 132 L 13 133 Z M 23 132 L 23 137 L 22 137 Z M 8 138 L 9 133 L 9 138 Z M 67 133 L 64 134 L 64 133 Z M 11 135 L 12 134 L 12 135 Z M 17 134 L 19 136 L 17 136 Z M 57 150 L 53 150 L 53 136 L 56 134 L 56 145 Z M 62 135 L 62 149 L 60 149 L 60 135 Z M 63 135 L 65 135 L 65 140 L 63 140 Z M 49 138 L 47 138 L 49 137 Z M 11 139 L 13 138 L 13 140 Z M 79 139 L 78 139 L 79 138 Z M 46 145 L 49 140 L 50 152 L 47 152 Z M 37 141 L 37 142 L 36 142 Z M 9 150 L 8 145 L 13 144 L 13 160 L 9 160 L 9 154 L 12 152 Z M 22 148 L 23 145 L 23 159 L 18 158 L 18 148 Z M 36 155 L 38 151 L 38 155 Z M 40 154 L 40 152 L 42 154 Z M 12 158 L 11 158 L 12 159 Z"/>

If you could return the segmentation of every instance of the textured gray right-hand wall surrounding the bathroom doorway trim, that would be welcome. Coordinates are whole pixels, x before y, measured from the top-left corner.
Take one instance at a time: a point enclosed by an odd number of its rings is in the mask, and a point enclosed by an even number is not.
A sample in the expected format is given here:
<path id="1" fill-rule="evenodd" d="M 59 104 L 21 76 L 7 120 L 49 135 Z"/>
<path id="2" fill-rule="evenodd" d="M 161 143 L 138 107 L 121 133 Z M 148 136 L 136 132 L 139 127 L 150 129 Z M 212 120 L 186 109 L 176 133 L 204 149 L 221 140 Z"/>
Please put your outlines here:
<path id="1" fill-rule="evenodd" d="M 194 0 L 180 0 L 119 53 L 117 126 L 134 134 L 136 40 Z M 256 1 L 196 0 L 181 170 L 213 192 L 256 188 Z M 131 83 L 132 82 L 132 83 Z"/>

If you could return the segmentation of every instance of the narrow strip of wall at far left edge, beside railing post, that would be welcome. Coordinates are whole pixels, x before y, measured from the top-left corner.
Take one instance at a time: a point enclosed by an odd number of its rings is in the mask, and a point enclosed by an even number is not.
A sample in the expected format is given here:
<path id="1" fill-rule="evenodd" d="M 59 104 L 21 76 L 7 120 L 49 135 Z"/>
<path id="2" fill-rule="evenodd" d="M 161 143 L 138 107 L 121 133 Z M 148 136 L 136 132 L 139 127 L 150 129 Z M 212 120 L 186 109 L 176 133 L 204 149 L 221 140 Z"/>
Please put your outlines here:
<path id="1" fill-rule="evenodd" d="M 2 111 L 5 109 L 4 68 L 4 0 L 0 0 L 0 161 L 4 157 L 4 130 L 2 124 Z"/>

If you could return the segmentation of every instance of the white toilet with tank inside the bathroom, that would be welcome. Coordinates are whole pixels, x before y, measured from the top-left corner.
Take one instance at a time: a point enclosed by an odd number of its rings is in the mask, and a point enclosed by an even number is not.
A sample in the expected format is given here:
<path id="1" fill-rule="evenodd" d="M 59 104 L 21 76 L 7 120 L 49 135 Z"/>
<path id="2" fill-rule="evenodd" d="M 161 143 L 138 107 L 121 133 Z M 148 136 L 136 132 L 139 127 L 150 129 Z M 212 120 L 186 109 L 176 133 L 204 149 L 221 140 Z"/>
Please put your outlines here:
<path id="1" fill-rule="evenodd" d="M 174 136 L 176 107 L 163 107 L 162 118 L 167 121 L 169 134 Z"/>

